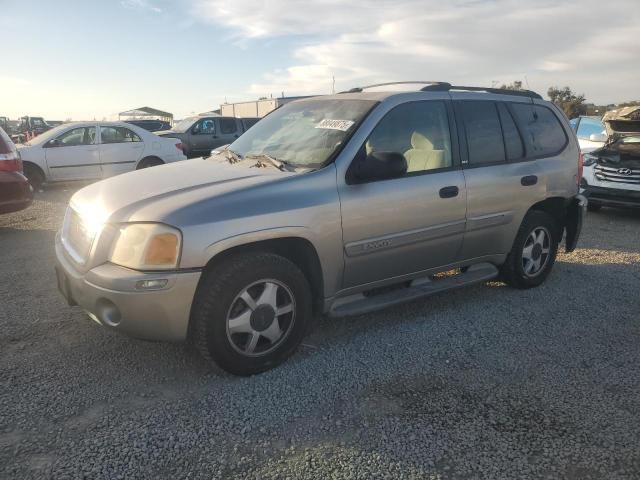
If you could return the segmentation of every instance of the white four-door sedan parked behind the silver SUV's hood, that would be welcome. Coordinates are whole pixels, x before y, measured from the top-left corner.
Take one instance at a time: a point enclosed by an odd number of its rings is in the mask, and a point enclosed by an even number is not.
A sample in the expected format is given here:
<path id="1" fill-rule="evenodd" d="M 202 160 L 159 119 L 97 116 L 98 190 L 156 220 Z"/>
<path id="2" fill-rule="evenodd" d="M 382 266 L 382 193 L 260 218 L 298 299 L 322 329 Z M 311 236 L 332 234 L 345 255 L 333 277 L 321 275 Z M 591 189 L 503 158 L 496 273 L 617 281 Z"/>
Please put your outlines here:
<path id="1" fill-rule="evenodd" d="M 187 158 L 179 139 L 123 122 L 67 123 L 18 145 L 18 151 L 36 189 L 44 182 L 100 180 Z"/>

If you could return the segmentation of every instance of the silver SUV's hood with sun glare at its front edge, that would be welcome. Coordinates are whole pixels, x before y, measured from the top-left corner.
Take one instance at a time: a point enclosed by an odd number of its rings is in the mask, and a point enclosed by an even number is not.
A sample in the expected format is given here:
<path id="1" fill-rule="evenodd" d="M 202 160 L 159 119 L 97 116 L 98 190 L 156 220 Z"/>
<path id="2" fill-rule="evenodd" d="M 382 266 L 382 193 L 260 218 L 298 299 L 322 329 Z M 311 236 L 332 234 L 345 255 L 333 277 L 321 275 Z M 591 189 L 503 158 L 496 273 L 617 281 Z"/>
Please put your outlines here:
<path id="1" fill-rule="evenodd" d="M 79 190 L 70 205 L 96 222 L 170 223 L 172 213 L 215 197 L 274 182 L 295 173 L 201 158 L 111 177 Z M 180 226 L 180 225 L 175 225 Z"/>

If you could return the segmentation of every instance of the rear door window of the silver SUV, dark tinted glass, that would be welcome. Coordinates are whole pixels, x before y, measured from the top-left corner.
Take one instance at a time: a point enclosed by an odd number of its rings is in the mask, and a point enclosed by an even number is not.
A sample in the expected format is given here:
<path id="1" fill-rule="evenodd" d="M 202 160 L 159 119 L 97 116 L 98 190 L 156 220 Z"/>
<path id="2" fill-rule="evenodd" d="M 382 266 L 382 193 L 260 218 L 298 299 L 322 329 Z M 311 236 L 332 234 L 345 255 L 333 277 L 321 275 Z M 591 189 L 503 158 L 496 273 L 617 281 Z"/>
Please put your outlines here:
<path id="1" fill-rule="evenodd" d="M 483 165 L 505 161 L 504 143 L 498 110 L 494 102 L 459 103 L 467 136 L 469 164 Z"/>

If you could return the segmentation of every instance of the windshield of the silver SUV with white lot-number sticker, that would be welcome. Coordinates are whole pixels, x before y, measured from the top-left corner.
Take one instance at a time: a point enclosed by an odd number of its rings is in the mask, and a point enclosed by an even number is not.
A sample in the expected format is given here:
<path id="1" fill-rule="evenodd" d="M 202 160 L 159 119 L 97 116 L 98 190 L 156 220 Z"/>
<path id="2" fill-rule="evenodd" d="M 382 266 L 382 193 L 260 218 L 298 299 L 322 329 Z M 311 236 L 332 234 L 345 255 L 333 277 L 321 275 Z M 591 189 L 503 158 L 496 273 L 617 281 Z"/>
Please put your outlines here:
<path id="1" fill-rule="evenodd" d="M 229 147 L 238 155 L 269 155 L 294 166 L 319 167 L 375 105 L 370 100 L 302 100 L 256 123 Z"/>

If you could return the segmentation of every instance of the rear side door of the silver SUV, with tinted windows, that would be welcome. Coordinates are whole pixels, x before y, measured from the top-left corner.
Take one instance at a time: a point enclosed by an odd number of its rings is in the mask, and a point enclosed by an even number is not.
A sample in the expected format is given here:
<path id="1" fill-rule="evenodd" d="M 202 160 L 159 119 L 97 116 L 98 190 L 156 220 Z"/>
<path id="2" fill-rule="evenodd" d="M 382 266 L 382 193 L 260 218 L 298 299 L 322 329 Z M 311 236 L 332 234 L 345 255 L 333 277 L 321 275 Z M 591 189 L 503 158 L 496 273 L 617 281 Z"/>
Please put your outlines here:
<path id="1" fill-rule="evenodd" d="M 536 155 L 526 146 L 528 132 L 523 129 L 528 125 L 517 121 L 510 103 L 454 103 L 467 186 L 461 256 L 472 259 L 505 254 L 511 250 L 527 210 L 546 193 Z M 532 112 L 531 103 L 515 105 Z"/>

